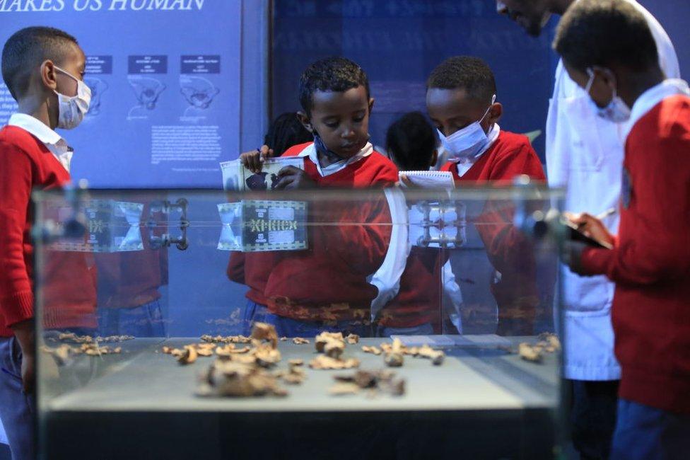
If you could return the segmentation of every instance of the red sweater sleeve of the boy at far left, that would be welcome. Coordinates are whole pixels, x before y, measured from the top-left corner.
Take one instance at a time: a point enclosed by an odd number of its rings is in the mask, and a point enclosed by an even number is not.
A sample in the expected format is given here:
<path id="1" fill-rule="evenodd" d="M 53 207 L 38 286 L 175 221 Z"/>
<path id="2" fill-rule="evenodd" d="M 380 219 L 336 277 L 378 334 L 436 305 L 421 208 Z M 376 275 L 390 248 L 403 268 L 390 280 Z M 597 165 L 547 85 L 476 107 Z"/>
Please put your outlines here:
<path id="1" fill-rule="evenodd" d="M 33 317 L 33 292 L 24 259 L 33 164 L 25 151 L 0 142 L 0 312 L 4 326 Z"/>

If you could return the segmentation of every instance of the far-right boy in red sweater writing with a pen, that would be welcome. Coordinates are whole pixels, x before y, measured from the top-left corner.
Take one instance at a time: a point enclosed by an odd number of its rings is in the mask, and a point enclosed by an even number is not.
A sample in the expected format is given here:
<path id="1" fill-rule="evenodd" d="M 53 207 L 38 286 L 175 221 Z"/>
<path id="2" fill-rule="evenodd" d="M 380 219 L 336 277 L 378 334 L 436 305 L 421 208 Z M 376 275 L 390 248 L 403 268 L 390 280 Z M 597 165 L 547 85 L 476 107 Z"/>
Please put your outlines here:
<path id="1" fill-rule="evenodd" d="M 621 224 L 616 236 L 573 216 L 611 250 L 566 246 L 580 275 L 616 283 L 621 363 L 614 459 L 680 459 L 690 434 L 690 91 L 668 80 L 644 16 L 624 0 L 580 0 L 554 48 L 599 115 L 626 122 Z"/>

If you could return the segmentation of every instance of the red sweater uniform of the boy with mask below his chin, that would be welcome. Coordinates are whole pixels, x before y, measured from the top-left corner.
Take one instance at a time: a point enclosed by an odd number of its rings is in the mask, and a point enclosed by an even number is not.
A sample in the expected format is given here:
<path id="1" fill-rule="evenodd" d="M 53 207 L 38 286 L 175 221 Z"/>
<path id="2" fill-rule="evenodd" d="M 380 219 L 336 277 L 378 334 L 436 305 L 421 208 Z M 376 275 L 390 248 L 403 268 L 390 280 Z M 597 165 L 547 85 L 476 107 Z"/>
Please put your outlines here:
<path id="1" fill-rule="evenodd" d="M 397 182 L 394 164 L 371 144 L 351 159 L 325 168 L 313 142 L 293 146 L 283 156 L 302 157 L 305 173 L 317 187 L 385 188 Z M 250 286 L 245 322 L 274 323 L 281 335 L 290 336 L 320 330 L 368 335 L 370 303 L 377 289 L 367 277 L 381 265 L 390 241 L 385 195 L 375 192 L 366 202 L 314 200 L 309 206 L 308 250 L 245 255 L 244 270 L 239 271 L 245 282 L 262 277 L 262 283 Z M 334 222 L 337 225 L 330 225 Z M 249 259 L 254 265 L 246 264 Z M 265 304 L 252 301 L 250 295 Z"/>

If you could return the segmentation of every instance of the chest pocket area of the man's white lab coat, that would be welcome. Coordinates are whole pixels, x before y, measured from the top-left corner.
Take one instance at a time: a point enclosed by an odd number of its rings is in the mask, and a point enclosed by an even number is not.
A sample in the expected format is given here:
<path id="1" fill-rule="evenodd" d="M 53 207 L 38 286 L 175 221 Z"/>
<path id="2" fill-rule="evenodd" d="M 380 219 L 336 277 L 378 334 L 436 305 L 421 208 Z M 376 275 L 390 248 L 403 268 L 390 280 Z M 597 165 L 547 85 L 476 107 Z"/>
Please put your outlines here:
<path id="1" fill-rule="evenodd" d="M 567 144 L 556 146 L 556 148 L 568 151 L 571 169 L 575 171 L 600 171 L 604 161 L 599 133 L 600 119 L 592 110 L 592 104 L 588 97 L 561 98 L 558 104 L 561 113 L 559 113 L 556 130 L 566 131 L 568 136 L 559 137 L 568 140 Z"/>

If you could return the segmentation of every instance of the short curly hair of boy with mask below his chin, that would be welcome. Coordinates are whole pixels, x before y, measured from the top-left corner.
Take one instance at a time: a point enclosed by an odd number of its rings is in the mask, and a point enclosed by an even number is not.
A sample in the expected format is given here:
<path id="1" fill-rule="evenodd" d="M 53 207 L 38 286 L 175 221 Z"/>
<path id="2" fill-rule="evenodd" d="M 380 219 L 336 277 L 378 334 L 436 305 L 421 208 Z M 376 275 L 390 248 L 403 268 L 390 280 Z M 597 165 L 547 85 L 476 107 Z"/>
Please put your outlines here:
<path id="1" fill-rule="evenodd" d="M 300 104 L 307 115 L 311 114 L 312 96 L 315 91 L 347 91 L 364 86 L 369 99 L 369 79 L 365 71 L 345 57 L 320 59 L 305 69 L 300 78 Z"/>

